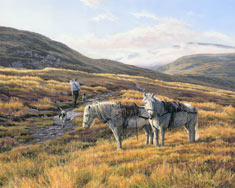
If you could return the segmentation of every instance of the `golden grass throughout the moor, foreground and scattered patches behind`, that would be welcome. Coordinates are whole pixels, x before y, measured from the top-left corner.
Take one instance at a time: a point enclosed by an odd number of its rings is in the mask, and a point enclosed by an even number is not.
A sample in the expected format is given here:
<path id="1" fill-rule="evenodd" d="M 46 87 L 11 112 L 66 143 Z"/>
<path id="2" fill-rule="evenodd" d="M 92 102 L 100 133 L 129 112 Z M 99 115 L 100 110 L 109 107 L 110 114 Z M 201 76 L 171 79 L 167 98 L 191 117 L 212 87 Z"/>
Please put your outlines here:
<path id="1" fill-rule="evenodd" d="M 0 84 L 6 84 L 10 92 L 15 90 L 32 92 L 35 89 L 52 92 L 70 92 L 66 82 L 43 80 L 40 75 L 51 74 L 59 69 L 13 70 L 18 76 L 2 77 Z M 2 71 L 2 70 L 1 70 Z M 66 71 L 78 73 L 78 71 Z M 21 78 L 21 74 L 30 74 L 30 78 Z M 84 73 L 85 74 L 85 73 Z M 89 75 L 88 73 L 86 73 Z M 104 76 L 104 75 L 100 75 Z M 106 75 L 112 77 L 113 75 Z M 23 76 L 24 77 L 24 76 Z M 118 75 L 117 79 L 141 82 L 142 77 Z M 144 78 L 143 84 L 155 83 L 167 85 L 169 88 L 188 89 L 209 92 L 210 88 L 182 83 L 166 83 Z M 20 90 L 21 89 L 21 90 Z M 84 92 L 107 92 L 105 87 L 82 86 Z M 222 96 L 222 90 L 214 90 Z M 111 99 L 124 104 L 135 102 L 143 105 L 143 94 L 135 90 L 123 90 L 120 96 Z M 57 94 L 53 94 L 57 95 Z M 233 92 L 225 92 L 234 95 Z M 172 100 L 165 96 L 160 99 Z M 63 98 L 63 99 L 68 99 Z M 38 98 L 35 103 L 42 104 L 38 108 L 50 108 L 53 99 L 47 95 Z M 186 101 L 187 102 L 187 101 Z M 165 147 L 155 148 L 143 145 L 145 135 L 141 133 L 139 140 L 129 137 L 123 141 L 123 150 L 116 149 L 116 141 L 109 139 L 107 126 L 101 122 L 90 129 L 90 133 L 81 127 L 82 118 L 74 119 L 78 127 L 66 133 L 62 138 L 42 144 L 18 146 L 11 151 L 0 153 L 0 186 L 3 187 L 235 187 L 234 164 L 234 112 L 232 106 L 216 103 L 191 103 L 199 110 L 199 120 L 208 125 L 199 127 L 200 139 L 196 143 L 188 143 L 188 135 L 183 129 L 167 131 Z M 2 109 L 18 112 L 28 107 L 20 99 L 12 98 L 10 102 L 0 102 Z M 6 105 L 4 107 L 4 105 Z M 23 106 L 22 106 L 23 105 Z M 46 106 L 48 105 L 48 106 Z M 4 107 L 4 108 L 3 108 Z M 76 109 L 83 111 L 84 107 Z M 10 112 L 10 111 L 9 111 Z M 38 125 L 30 119 L 31 124 Z M 29 122 L 30 122 L 29 121 Z M 37 121 L 37 120 L 35 120 Z M 45 121 L 52 124 L 49 119 Z M 20 124 L 20 122 L 19 122 Z M 40 125 L 39 125 L 40 126 Z M 42 125 L 43 126 L 43 125 Z M 1 133 L 9 133 L 21 137 L 26 126 L 0 126 Z M 17 130 L 18 129 L 18 130 Z M 22 129 L 22 130 L 19 130 Z M 100 131 L 102 130 L 102 131 Z M 81 141 L 82 137 L 96 136 L 96 142 Z M 74 139 L 74 141 L 72 141 Z M 0 140 L 5 147 L 17 145 L 16 140 Z M 2 144 L 2 145 L 3 145 Z"/>

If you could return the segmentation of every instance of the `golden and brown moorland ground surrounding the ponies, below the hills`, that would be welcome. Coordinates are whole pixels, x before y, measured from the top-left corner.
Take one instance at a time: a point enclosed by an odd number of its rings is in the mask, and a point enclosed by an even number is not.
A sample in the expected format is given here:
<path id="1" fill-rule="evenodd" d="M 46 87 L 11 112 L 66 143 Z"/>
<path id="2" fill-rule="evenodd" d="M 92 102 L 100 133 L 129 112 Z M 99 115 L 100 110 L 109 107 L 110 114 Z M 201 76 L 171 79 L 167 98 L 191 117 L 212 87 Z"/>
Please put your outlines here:
<path id="1" fill-rule="evenodd" d="M 68 81 L 78 78 L 88 101 L 135 102 L 143 91 L 178 100 L 199 111 L 196 143 L 182 128 L 168 130 L 165 147 L 145 145 L 145 135 L 127 131 L 123 150 L 106 124 L 82 127 L 79 98 L 69 122 L 57 127 L 58 106 L 71 109 Z M 48 139 L 40 140 L 41 130 Z M 2 187 L 235 187 L 235 93 L 140 76 L 94 74 L 65 69 L 0 69 L 0 186 Z"/>

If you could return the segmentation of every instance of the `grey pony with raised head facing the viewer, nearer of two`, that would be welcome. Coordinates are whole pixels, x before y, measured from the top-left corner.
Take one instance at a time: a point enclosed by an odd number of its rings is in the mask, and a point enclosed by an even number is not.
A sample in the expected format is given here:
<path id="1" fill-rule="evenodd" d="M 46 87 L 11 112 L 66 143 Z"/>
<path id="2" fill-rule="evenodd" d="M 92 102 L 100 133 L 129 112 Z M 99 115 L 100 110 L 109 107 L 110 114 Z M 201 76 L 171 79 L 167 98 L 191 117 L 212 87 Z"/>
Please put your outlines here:
<path id="1" fill-rule="evenodd" d="M 156 146 L 159 145 L 158 134 L 161 132 L 161 146 L 164 146 L 165 130 L 185 126 L 189 134 L 189 142 L 195 142 L 199 138 L 198 134 L 198 112 L 195 107 L 189 104 L 182 104 L 182 110 L 171 113 L 166 108 L 164 101 L 154 97 L 153 94 L 145 93 L 143 102 L 145 110 L 149 114 L 149 122 L 152 126 L 156 139 Z"/>

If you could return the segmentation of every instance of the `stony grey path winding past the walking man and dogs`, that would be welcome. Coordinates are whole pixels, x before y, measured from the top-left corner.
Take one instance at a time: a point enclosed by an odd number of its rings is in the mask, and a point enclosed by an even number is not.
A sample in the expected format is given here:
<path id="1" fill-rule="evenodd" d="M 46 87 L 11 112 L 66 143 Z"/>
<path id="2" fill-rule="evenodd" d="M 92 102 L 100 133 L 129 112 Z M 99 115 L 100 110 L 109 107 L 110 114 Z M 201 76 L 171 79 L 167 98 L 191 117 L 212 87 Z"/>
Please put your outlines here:
<path id="1" fill-rule="evenodd" d="M 97 95 L 96 97 L 89 99 L 87 102 L 80 104 L 78 108 L 81 106 L 86 106 L 87 104 L 90 104 L 96 101 L 102 101 L 107 97 L 112 97 L 113 94 L 114 94 L 113 92 L 110 92 L 110 93 Z M 38 130 L 33 130 L 31 134 L 34 136 L 34 138 L 30 140 L 30 142 L 28 142 L 27 144 L 35 144 L 35 143 L 44 142 L 46 140 L 53 140 L 57 137 L 64 135 L 68 131 L 74 130 L 77 127 L 77 125 L 71 123 L 71 121 L 76 117 L 81 117 L 82 113 L 75 112 L 73 108 L 68 108 L 64 110 L 67 112 L 67 121 L 64 127 L 61 126 L 59 116 L 58 115 L 54 116 L 52 118 L 54 124 L 52 126 L 45 126 Z"/>

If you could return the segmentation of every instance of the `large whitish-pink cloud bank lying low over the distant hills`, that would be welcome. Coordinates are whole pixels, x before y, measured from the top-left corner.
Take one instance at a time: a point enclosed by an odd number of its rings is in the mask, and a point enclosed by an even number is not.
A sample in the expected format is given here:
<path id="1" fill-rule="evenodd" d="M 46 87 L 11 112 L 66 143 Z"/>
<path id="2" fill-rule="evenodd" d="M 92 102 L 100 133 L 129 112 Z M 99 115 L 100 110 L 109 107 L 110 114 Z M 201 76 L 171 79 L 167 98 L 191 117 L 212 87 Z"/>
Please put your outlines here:
<path id="1" fill-rule="evenodd" d="M 64 36 L 58 40 L 88 57 L 119 60 L 142 67 L 163 65 L 184 55 L 235 52 L 232 48 L 198 43 L 235 44 L 234 39 L 225 34 L 216 31 L 196 32 L 184 21 L 174 18 L 148 14 L 136 16 L 151 17 L 157 22 L 103 38 L 89 34 L 83 39 Z"/>

